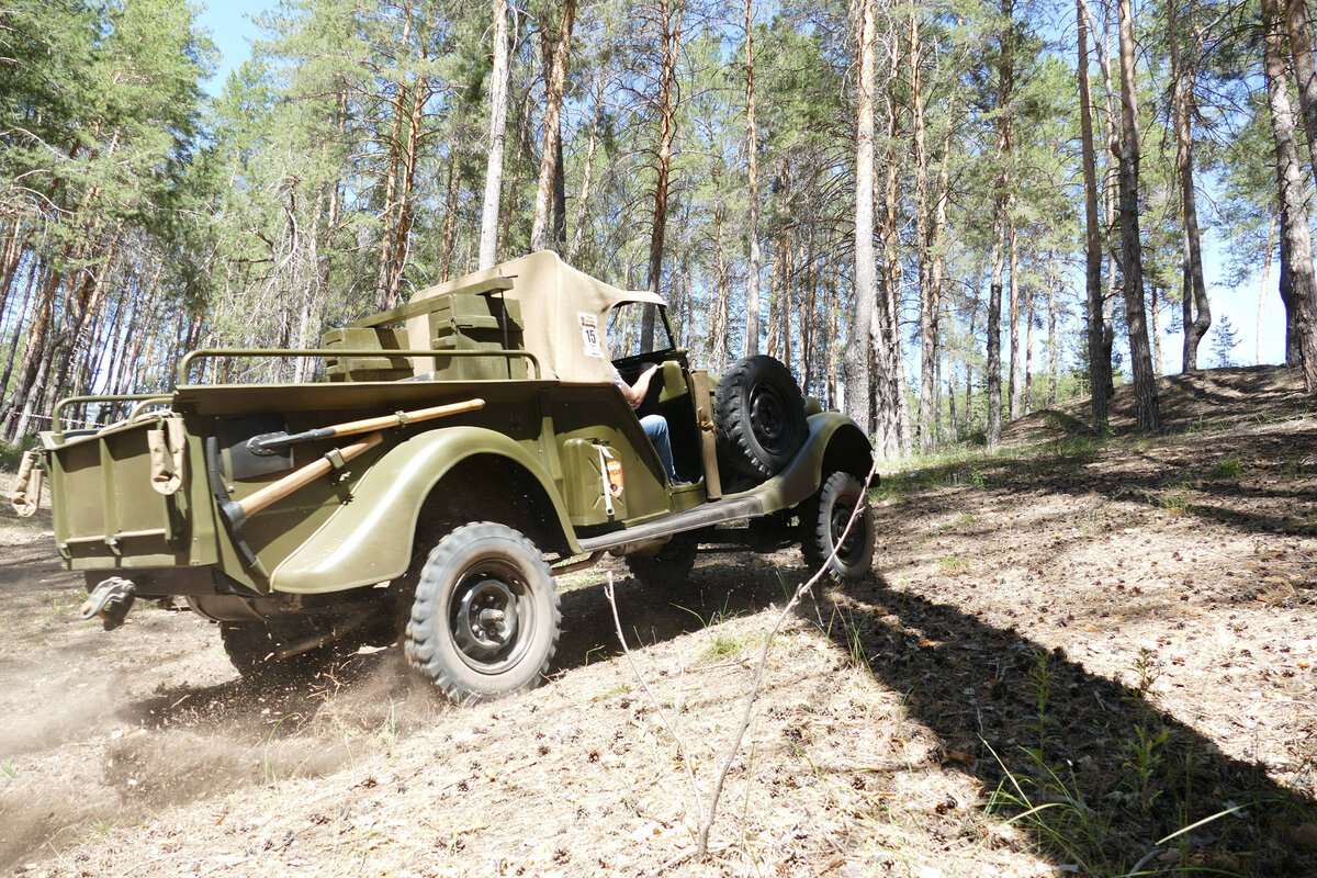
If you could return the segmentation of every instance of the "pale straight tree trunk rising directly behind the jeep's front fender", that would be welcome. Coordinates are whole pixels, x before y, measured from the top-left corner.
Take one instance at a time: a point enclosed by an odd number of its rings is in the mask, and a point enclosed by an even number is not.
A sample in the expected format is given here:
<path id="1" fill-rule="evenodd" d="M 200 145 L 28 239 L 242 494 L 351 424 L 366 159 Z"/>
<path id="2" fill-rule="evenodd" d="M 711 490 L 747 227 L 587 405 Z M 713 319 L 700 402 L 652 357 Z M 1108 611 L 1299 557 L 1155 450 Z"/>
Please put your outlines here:
<path id="1" fill-rule="evenodd" d="M 877 257 L 873 253 L 873 97 L 874 39 L 877 38 L 877 0 L 856 4 L 856 55 L 859 72 L 855 88 L 855 319 L 842 358 L 846 380 L 846 413 L 865 433 L 874 433 L 871 423 L 873 394 L 873 315 L 878 300 Z M 884 437 L 885 438 L 885 437 Z M 884 453 L 886 442 L 877 442 Z"/>

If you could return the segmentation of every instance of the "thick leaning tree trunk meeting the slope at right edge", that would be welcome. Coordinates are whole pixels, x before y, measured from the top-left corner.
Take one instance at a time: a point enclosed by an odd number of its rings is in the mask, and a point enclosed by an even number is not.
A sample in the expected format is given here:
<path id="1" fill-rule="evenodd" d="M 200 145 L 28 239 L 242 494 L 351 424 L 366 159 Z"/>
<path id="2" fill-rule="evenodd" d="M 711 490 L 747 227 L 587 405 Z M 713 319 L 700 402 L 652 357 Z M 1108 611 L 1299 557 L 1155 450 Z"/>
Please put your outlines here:
<path id="1" fill-rule="evenodd" d="M 1271 130 L 1276 141 L 1276 176 L 1280 190 L 1281 297 L 1287 299 L 1285 311 L 1295 326 L 1293 334 L 1304 367 L 1304 388 L 1309 394 L 1317 394 L 1317 279 L 1313 276 L 1313 244 L 1308 226 L 1306 182 L 1299 166 L 1293 112 L 1289 107 L 1279 1 L 1263 0 L 1262 17 L 1267 29 L 1263 59 L 1271 108 Z M 1287 275 L 1288 297 L 1285 296 Z"/>

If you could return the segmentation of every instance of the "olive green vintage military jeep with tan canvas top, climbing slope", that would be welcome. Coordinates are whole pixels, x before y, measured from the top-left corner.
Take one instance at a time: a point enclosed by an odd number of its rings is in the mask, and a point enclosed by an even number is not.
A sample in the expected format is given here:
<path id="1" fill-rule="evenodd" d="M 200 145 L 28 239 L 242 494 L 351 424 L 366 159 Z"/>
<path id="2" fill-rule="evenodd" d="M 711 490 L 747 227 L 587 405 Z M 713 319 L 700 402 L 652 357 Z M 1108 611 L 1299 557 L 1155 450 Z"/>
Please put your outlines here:
<path id="1" fill-rule="evenodd" d="M 702 537 L 749 521 L 836 578 L 867 575 L 863 432 L 776 359 L 714 383 L 670 338 L 657 296 L 537 253 L 320 349 L 195 350 L 171 394 L 61 400 L 14 503 L 30 512 L 49 475 L 57 548 L 87 575 L 83 617 L 107 629 L 138 598 L 191 609 L 250 677 L 402 634 L 408 662 L 462 703 L 544 679 L 553 578 L 605 553 L 676 588 Z M 316 380 L 241 383 L 253 358 Z M 651 365 L 633 409 L 618 380 Z M 71 405 L 126 416 L 63 429 Z M 666 421 L 676 478 L 645 415 Z"/>

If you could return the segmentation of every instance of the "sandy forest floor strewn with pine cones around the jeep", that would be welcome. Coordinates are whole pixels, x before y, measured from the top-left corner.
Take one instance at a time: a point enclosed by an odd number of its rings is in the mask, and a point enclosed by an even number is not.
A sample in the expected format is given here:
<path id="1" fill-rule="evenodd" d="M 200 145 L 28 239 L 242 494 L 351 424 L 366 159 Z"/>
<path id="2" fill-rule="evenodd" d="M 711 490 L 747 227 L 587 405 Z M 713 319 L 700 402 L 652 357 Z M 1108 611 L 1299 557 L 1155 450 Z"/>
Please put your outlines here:
<path id="1" fill-rule="evenodd" d="M 795 548 L 710 546 L 680 596 L 576 574 L 552 681 L 456 708 L 395 649 L 261 688 L 188 613 L 101 632 L 5 509 L 0 871 L 1317 875 L 1317 411 L 1276 369 L 1160 391 L 1155 437 L 1122 388 L 1114 436 L 1076 401 L 885 474 L 874 573 L 772 642 L 705 861 Z"/>

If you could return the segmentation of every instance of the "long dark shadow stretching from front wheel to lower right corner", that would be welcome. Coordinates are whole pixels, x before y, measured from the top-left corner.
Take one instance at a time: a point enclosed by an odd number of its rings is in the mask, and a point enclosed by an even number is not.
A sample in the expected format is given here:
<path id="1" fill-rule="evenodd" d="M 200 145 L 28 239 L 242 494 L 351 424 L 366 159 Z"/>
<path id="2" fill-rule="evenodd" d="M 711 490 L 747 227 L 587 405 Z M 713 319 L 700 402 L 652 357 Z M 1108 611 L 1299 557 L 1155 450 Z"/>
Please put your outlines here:
<path id="1" fill-rule="evenodd" d="M 880 579 L 834 599 L 847 620 L 832 627 L 838 645 L 853 656 L 857 642 L 874 678 L 942 740 L 946 766 L 1001 790 L 990 807 L 1058 865 L 1080 874 L 1317 874 L 1317 852 L 1296 840 L 1314 803 L 1139 691 Z"/>

